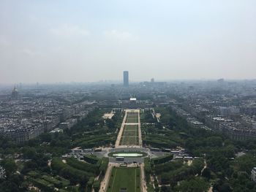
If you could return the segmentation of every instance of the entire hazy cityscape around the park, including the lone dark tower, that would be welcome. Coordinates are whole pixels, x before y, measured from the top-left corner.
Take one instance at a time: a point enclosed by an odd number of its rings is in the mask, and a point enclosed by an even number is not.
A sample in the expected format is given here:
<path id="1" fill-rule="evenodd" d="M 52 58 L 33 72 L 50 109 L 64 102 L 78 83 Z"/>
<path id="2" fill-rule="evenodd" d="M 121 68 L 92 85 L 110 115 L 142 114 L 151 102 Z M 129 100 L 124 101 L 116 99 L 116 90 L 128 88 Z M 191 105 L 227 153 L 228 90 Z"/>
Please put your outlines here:
<path id="1" fill-rule="evenodd" d="M 124 86 L 129 85 L 128 78 L 128 72 L 124 72 Z M 21 91 L 14 88 L 1 95 L 0 132 L 16 142 L 23 142 L 58 126 L 74 126 L 86 117 L 91 107 L 148 108 L 155 103 L 170 105 L 192 126 L 221 131 L 232 139 L 255 138 L 254 85 L 253 81 L 167 83 L 151 80 L 130 85 L 129 91 L 121 91 L 118 85 L 107 86 L 104 90 L 101 88 L 103 85 L 88 85 L 89 91 L 80 91 L 75 95 L 69 91 L 61 94 L 47 91 L 47 85 L 42 89 L 38 86 L 26 88 L 24 85 Z M 79 86 L 75 88 L 79 89 Z M 25 90 L 28 92 L 25 93 Z M 86 101 L 86 97 L 93 99 Z"/>

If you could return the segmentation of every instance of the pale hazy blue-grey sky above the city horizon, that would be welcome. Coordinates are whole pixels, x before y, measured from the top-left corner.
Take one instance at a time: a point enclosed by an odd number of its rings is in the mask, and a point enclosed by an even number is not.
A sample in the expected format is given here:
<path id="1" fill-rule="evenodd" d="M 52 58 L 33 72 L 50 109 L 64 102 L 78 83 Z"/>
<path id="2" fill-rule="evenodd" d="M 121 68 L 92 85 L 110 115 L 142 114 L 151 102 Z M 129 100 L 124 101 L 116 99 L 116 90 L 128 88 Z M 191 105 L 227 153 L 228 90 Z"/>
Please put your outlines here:
<path id="1" fill-rule="evenodd" d="M 256 78 L 255 0 L 0 0 L 0 83 Z"/>

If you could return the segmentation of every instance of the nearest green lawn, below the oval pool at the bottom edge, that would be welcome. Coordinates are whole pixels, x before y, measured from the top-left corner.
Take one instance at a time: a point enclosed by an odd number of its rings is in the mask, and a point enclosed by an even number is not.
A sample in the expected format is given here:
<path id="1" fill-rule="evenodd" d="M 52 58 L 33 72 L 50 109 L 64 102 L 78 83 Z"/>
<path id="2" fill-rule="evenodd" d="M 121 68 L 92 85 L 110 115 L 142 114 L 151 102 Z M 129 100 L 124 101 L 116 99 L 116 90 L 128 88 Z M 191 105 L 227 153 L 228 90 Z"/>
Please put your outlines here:
<path id="1" fill-rule="evenodd" d="M 114 167 L 108 184 L 107 192 L 140 192 L 140 168 Z"/>

